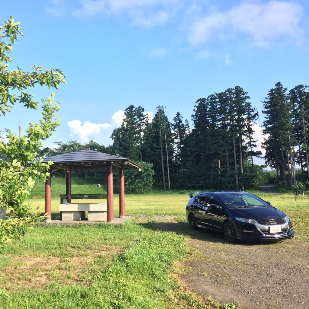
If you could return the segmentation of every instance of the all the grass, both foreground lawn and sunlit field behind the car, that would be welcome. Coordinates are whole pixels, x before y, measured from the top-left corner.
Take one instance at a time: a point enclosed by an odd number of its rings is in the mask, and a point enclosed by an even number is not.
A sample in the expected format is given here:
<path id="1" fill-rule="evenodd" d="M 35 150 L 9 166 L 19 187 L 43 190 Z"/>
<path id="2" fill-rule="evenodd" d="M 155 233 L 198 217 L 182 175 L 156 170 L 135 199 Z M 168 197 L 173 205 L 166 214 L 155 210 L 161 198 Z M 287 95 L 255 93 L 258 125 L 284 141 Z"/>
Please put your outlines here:
<path id="1" fill-rule="evenodd" d="M 178 275 L 183 270 L 177 261 L 192 258 L 187 238 L 193 232 L 185 217 L 189 191 L 180 193 L 127 194 L 126 215 L 145 215 L 148 222 L 142 224 L 132 220 L 123 226 L 38 226 L 11 243 L 0 256 L 0 309 L 232 308 L 215 302 L 209 307 L 181 287 Z M 293 195 L 253 193 L 290 216 L 295 239 L 309 240 L 306 196 L 295 202 Z M 118 198 L 115 194 L 115 216 Z M 44 211 L 44 198 L 28 202 Z M 58 209 L 57 196 L 52 199 L 53 216 Z M 156 215 L 172 216 L 176 232 L 155 230 Z"/>

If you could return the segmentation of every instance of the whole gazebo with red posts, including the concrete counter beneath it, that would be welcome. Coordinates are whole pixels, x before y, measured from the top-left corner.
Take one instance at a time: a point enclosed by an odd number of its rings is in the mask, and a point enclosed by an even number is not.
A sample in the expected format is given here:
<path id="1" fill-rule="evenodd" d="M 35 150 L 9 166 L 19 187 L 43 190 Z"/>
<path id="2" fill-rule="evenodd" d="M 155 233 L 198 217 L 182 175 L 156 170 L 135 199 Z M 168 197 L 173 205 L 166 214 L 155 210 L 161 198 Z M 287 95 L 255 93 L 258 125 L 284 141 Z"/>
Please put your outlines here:
<path id="1" fill-rule="evenodd" d="M 88 211 L 89 221 L 114 222 L 113 169 L 119 170 L 119 217 L 125 217 L 124 170 L 130 168 L 141 171 L 142 167 L 140 165 L 130 159 L 94 151 L 89 147 L 84 147 L 80 151 L 43 159 L 43 163 L 48 161 L 53 161 L 49 173 L 66 171 L 66 194 L 61 195 L 59 205 L 60 219 L 62 221 L 85 220 L 85 214 Z M 84 192 L 82 194 L 71 194 L 71 171 L 92 169 L 106 170 L 107 194 L 91 195 Z M 93 200 L 97 198 L 106 199 L 106 203 L 93 203 L 93 201 L 87 203 L 87 199 Z M 76 202 L 72 203 L 72 199 L 76 199 Z M 47 177 L 45 182 L 45 213 L 48 215 L 46 221 L 51 221 L 51 176 Z"/>

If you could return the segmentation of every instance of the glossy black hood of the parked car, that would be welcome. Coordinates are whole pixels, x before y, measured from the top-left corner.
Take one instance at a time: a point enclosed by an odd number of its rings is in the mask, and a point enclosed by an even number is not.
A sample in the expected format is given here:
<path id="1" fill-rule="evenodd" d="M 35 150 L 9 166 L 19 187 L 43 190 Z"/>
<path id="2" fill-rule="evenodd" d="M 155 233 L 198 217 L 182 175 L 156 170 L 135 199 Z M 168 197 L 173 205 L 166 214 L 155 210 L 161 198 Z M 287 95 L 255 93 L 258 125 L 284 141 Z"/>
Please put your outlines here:
<path id="1" fill-rule="evenodd" d="M 285 214 L 274 208 L 273 206 L 266 207 L 248 207 L 240 209 L 230 209 L 230 215 L 237 218 L 254 219 L 254 220 L 272 220 L 281 219 Z"/>

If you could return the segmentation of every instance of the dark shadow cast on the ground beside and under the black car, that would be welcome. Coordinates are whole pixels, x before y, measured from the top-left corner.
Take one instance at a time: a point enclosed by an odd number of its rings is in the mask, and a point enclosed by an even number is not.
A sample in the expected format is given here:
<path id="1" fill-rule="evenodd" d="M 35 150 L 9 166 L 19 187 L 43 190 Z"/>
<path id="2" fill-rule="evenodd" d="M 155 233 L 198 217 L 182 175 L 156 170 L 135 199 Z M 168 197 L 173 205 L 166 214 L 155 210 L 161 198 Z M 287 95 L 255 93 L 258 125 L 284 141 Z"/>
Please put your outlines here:
<path id="1" fill-rule="evenodd" d="M 236 243 L 228 242 L 222 232 L 210 231 L 203 228 L 192 230 L 187 222 L 147 222 L 139 223 L 140 225 L 153 230 L 153 231 L 167 231 L 174 232 L 178 235 L 188 236 L 191 239 L 200 241 L 207 241 L 211 243 L 222 243 L 228 245 L 241 245 L 241 246 L 252 246 L 252 245 L 269 245 L 273 243 L 279 243 L 280 241 L 237 241 Z"/>

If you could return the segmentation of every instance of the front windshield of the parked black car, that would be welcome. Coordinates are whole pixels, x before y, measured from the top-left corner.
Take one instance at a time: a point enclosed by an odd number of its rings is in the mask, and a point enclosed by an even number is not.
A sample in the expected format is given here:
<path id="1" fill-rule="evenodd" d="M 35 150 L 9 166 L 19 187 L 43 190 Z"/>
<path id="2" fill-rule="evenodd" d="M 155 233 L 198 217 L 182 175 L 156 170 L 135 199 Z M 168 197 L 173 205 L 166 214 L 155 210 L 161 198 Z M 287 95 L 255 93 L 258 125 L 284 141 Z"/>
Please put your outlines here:
<path id="1" fill-rule="evenodd" d="M 251 193 L 234 193 L 220 196 L 228 208 L 262 207 L 268 205 L 265 201 Z"/>

